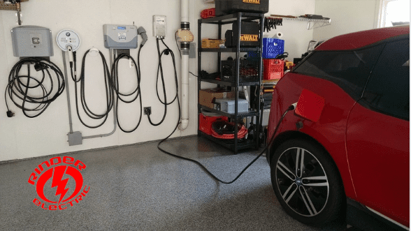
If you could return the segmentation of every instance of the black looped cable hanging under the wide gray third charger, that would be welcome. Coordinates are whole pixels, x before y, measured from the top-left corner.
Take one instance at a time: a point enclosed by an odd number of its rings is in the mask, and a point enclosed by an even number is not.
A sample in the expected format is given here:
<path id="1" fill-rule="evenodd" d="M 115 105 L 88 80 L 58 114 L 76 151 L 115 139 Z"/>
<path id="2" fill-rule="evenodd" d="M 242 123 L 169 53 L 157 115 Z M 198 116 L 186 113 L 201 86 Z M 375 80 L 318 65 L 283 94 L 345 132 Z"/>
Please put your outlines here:
<path id="1" fill-rule="evenodd" d="M 140 126 L 140 122 L 141 122 L 141 117 L 143 116 L 143 102 L 141 100 L 141 89 L 140 89 L 140 81 L 141 81 L 141 73 L 140 73 L 140 51 L 141 51 L 141 47 L 143 47 L 143 45 L 140 45 L 140 48 L 138 49 L 138 55 L 137 55 L 137 60 L 138 60 L 138 65 L 136 64 L 136 61 L 133 59 L 133 57 L 131 57 L 129 54 L 120 54 L 119 56 L 117 56 L 117 58 L 115 58 L 115 60 L 113 61 L 113 66 L 111 67 L 111 81 L 110 81 L 110 86 L 113 88 L 113 90 L 115 91 L 115 94 L 117 95 L 116 97 L 116 117 L 117 117 L 117 125 L 118 127 L 124 132 L 124 133 L 132 133 L 134 131 L 136 131 L 136 129 L 138 128 L 138 126 Z M 119 75 L 118 75 L 118 63 L 120 61 L 120 59 L 131 59 L 131 61 L 133 61 L 134 63 L 134 67 L 136 68 L 136 74 L 137 74 L 137 86 L 136 88 L 129 94 L 126 93 L 122 93 L 120 91 L 120 87 L 119 87 Z M 134 96 L 133 98 L 131 98 L 130 100 L 127 100 L 126 98 L 129 96 L 133 96 L 134 94 L 136 94 L 136 96 Z M 138 97 L 140 96 L 140 97 Z M 120 125 L 120 120 L 118 117 L 118 105 L 119 105 L 119 100 L 121 100 L 123 103 L 133 103 L 134 101 L 136 101 L 136 99 L 139 98 L 140 99 L 140 117 L 138 119 L 138 123 L 137 125 L 132 128 L 131 130 L 125 130 L 124 128 L 122 128 L 122 126 Z"/>

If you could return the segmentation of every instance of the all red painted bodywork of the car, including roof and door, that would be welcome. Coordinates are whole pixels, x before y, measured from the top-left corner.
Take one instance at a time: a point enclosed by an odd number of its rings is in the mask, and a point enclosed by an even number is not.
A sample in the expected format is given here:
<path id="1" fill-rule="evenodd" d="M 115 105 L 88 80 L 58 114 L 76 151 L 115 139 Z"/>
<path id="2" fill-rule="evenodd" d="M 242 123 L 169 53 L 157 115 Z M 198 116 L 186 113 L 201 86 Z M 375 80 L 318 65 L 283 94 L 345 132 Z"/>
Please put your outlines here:
<path id="1" fill-rule="evenodd" d="M 409 25 L 349 33 L 327 40 L 315 52 L 352 50 L 409 33 Z M 329 80 L 291 72 L 273 92 L 268 140 L 303 89 L 325 98 L 319 121 L 308 121 L 291 111 L 275 137 L 291 131 L 316 140 L 336 163 L 347 198 L 410 227 L 410 121 L 363 107 Z M 299 130 L 298 121 L 303 122 Z"/>

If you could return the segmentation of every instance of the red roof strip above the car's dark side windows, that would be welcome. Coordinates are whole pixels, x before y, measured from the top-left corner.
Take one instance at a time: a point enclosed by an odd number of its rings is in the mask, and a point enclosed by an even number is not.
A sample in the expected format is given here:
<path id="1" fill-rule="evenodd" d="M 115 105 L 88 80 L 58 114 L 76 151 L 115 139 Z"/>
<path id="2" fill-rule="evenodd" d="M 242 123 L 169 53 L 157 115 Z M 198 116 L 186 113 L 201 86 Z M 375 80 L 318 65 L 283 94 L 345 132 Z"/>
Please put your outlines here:
<path id="1" fill-rule="evenodd" d="M 315 50 L 352 50 L 381 40 L 410 33 L 410 27 L 387 27 L 336 36 L 319 45 Z"/>

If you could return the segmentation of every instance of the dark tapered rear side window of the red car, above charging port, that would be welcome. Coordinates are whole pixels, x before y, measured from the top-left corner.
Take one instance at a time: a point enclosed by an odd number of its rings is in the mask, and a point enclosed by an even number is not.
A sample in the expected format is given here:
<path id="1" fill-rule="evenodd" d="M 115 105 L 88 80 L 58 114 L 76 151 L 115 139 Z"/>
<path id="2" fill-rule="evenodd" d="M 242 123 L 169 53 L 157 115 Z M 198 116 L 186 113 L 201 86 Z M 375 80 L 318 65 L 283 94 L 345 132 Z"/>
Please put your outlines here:
<path id="1" fill-rule="evenodd" d="M 382 46 L 313 52 L 294 72 L 334 82 L 354 100 L 359 100 Z"/>

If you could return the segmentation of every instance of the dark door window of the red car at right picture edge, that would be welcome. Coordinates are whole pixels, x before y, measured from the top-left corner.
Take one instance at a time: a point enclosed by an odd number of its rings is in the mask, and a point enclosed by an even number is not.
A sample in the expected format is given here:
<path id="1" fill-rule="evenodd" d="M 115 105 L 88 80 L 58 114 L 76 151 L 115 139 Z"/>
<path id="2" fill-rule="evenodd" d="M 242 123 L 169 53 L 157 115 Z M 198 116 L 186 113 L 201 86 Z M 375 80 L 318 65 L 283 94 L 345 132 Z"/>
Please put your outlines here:
<path id="1" fill-rule="evenodd" d="M 387 43 L 363 99 L 371 109 L 410 120 L 410 37 Z"/>

